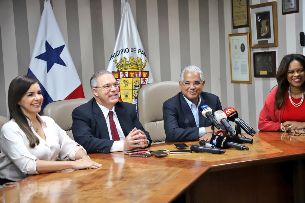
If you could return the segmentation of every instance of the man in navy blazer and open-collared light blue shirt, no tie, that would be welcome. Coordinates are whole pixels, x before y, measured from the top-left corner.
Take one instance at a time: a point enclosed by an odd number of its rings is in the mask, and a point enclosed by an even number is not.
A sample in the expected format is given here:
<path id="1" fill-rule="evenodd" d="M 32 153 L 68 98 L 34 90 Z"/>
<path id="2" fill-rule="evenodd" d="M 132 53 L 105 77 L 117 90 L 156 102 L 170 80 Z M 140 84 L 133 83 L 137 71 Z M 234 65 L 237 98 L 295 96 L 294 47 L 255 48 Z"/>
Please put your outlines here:
<path id="1" fill-rule="evenodd" d="M 218 96 L 202 91 L 204 83 L 202 70 L 198 66 L 187 66 L 181 70 L 181 92 L 163 103 L 165 142 L 210 141 L 211 123 L 200 115 L 200 106 L 210 106 L 213 114 L 222 107 Z"/>

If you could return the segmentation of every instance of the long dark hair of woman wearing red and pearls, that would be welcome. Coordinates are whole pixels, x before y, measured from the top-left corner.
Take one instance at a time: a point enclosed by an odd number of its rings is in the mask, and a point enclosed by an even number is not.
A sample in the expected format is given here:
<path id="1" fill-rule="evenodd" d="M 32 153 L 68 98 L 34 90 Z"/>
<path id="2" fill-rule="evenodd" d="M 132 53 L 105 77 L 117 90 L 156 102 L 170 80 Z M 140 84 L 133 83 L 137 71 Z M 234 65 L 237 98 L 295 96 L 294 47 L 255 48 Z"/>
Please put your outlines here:
<path id="1" fill-rule="evenodd" d="M 300 62 L 303 68 L 305 68 L 305 56 L 301 54 L 285 55 L 282 58 L 280 66 L 278 66 L 278 72 L 276 73 L 276 80 L 278 81 L 278 90 L 275 94 L 275 107 L 277 109 L 281 108 L 283 104 L 284 96 L 289 87 L 289 82 L 287 80 L 287 73 L 290 62 L 294 60 Z M 303 89 L 305 89 L 305 83 L 303 83 Z"/>

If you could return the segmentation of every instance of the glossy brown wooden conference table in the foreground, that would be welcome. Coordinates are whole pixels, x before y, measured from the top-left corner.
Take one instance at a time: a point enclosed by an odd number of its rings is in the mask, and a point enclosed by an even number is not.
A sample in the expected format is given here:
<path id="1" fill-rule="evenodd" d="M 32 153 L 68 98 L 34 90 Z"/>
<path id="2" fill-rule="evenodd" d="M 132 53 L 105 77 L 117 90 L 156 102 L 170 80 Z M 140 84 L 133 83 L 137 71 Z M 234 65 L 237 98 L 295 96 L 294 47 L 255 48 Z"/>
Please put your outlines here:
<path id="1" fill-rule="evenodd" d="M 253 140 L 245 144 L 249 151 L 230 148 L 221 155 L 91 154 L 101 168 L 39 174 L 19 181 L 20 202 L 303 201 L 305 137 L 257 132 Z M 176 148 L 173 143 L 149 148 L 159 149 Z"/>

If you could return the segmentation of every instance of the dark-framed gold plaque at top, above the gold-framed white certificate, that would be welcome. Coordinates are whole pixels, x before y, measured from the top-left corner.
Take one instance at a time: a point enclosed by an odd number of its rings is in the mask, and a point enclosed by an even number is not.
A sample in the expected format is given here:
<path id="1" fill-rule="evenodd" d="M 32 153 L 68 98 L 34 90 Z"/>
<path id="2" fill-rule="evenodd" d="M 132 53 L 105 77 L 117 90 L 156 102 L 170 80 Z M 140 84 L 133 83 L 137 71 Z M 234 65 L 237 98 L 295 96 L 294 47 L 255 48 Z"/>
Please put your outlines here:
<path id="1" fill-rule="evenodd" d="M 233 28 L 249 27 L 248 6 L 249 0 L 231 0 Z"/>

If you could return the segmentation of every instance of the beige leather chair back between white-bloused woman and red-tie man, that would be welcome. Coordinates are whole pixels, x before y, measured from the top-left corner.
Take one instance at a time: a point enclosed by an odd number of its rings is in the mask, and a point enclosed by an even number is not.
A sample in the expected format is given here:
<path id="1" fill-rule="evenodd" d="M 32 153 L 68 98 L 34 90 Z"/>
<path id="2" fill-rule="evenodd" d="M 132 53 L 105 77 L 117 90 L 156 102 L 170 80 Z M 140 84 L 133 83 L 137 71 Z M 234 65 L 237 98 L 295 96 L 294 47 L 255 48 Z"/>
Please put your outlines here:
<path id="1" fill-rule="evenodd" d="M 43 110 L 44 116 L 51 117 L 59 127 L 66 130 L 67 135 L 74 140 L 72 134 L 72 111 L 87 103 L 90 99 L 66 99 L 48 103 Z"/>

